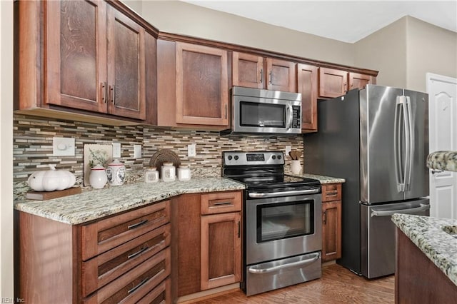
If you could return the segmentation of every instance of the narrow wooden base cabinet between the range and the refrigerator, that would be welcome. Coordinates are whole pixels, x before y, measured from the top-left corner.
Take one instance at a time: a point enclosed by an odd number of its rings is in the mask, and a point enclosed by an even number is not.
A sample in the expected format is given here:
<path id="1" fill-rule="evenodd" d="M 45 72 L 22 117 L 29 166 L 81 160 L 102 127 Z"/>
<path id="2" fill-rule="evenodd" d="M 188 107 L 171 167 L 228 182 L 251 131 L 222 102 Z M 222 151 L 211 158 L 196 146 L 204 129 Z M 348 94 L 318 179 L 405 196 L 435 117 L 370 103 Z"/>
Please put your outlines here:
<path id="1" fill-rule="evenodd" d="M 341 258 L 341 183 L 322 186 L 322 261 Z"/>

